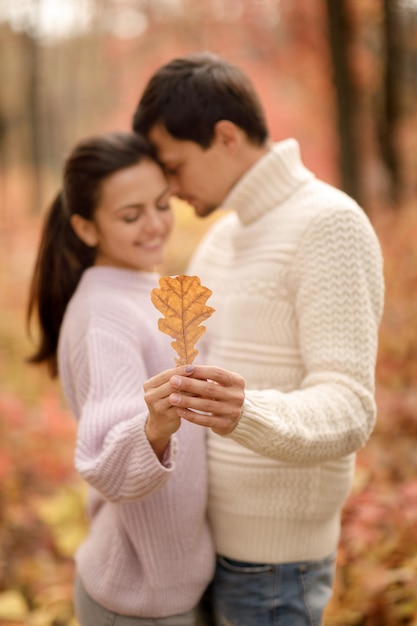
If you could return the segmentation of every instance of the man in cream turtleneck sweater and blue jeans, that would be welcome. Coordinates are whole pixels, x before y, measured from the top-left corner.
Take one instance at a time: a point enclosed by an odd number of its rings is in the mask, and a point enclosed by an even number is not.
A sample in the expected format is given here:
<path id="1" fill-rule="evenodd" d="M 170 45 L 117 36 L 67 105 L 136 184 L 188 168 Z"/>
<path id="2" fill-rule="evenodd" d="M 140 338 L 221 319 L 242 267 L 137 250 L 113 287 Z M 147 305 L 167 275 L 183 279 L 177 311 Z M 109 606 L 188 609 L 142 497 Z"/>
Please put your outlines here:
<path id="1" fill-rule="evenodd" d="M 317 626 L 355 452 L 376 417 L 377 238 L 351 198 L 302 164 L 295 140 L 271 141 L 250 81 L 213 54 L 160 68 L 133 127 L 198 216 L 233 209 L 188 271 L 213 291 L 200 343 L 221 370 L 155 380 L 170 382 L 182 417 L 211 429 L 216 624 Z"/>

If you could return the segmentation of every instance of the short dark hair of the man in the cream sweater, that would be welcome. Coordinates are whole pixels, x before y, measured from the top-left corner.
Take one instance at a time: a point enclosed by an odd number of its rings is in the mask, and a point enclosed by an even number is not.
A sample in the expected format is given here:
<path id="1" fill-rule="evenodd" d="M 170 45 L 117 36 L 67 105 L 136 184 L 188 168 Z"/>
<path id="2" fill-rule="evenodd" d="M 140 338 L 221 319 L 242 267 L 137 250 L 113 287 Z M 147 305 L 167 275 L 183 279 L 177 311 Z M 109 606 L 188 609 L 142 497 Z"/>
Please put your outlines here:
<path id="1" fill-rule="evenodd" d="M 176 139 L 208 148 L 220 120 L 239 126 L 255 145 L 268 138 L 263 107 L 249 78 L 221 57 L 201 52 L 173 59 L 156 71 L 132 126 L 148 136 L 161 123 Z"/>

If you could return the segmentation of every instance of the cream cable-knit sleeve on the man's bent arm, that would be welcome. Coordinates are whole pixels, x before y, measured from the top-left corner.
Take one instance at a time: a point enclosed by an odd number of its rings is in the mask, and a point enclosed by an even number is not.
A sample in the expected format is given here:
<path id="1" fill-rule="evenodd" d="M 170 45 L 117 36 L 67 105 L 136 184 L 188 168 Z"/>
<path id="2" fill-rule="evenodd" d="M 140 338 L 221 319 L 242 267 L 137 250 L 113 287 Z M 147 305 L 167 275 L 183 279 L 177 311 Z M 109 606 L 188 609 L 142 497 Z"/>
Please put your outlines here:
<path id="1" fill-rule="evenodd" d="M 360 209 L 320 213 L 299 242 L 291 282 L 302 382 L 288 393 L 247 390 L 228 436 L 282 462 L 324 462 L 364 445 L 376 419 L 382 257 Z"/>

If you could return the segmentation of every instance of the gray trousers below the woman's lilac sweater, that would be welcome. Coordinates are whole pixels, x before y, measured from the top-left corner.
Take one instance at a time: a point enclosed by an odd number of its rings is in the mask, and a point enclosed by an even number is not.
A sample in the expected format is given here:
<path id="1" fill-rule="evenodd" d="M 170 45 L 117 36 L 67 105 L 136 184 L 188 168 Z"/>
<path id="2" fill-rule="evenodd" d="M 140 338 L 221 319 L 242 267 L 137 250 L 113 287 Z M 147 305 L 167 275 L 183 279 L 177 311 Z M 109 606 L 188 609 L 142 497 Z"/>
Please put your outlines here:
<path id="1" fill-rule="evenodd" d="M 97 604 L 86 592 L 77 576 L 75 580 L 75 614 L 80 626 L 196 626 L 196 611 L 171 617 L 134 617 L 120 615 Z"/>

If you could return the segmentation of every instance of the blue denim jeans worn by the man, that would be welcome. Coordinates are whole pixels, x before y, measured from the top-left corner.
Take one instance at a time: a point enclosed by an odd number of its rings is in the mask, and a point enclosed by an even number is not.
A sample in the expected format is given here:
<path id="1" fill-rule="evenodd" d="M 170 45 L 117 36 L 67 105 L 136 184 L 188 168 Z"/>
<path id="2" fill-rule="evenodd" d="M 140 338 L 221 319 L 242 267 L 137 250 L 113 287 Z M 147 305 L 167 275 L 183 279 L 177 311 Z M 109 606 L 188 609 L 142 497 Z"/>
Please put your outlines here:
<path id="1" fill-rule="evenodd" d="M 271 565 L 219 556 L 212 585 L 216 626 L 320 626 L 335 556 Z"/>

